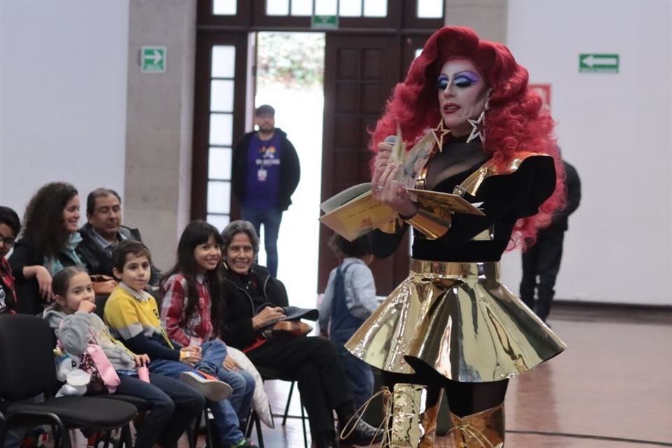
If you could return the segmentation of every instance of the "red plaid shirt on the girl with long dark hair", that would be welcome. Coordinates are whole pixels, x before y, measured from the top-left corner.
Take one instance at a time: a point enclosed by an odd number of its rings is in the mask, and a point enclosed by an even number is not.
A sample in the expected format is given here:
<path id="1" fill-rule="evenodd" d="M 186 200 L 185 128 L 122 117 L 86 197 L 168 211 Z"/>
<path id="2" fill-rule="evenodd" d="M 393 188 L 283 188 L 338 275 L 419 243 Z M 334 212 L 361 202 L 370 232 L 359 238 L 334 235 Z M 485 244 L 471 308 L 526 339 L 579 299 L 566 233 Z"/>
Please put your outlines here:
<path id="1" fill-rule="evenodd" d="M 198 307 L 191 316 L 186 316 L 187 288 L 187 279 L 182 274 L 172 275 L 163 283 L 166 293 L 161 304 L 161 321 L 170 339 L 182 346 L 200 346 L 212 338 L 210 288 L 204 276 L 196 277 Z"/>

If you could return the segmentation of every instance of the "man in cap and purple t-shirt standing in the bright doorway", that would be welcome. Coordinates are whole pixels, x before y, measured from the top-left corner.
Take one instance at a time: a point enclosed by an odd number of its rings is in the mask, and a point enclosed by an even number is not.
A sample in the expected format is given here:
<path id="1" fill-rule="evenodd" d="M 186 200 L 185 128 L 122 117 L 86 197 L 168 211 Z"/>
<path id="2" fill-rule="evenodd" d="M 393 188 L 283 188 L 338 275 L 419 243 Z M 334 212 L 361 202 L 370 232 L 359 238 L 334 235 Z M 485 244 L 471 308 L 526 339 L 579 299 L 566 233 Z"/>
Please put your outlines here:
<path id="1" fill-rule="evenodd" d="M 278 233 L 282 212 L 299 184 L 299 158 L 287 134 L 275 127 L 275 109 L 268 104 L 254 111 L 258 131 L 248 132 L 233 149 L 232 188 L 241 215 L 260 233 L 264 225 L 264 246 L 268 270 L 278 274 Z"/>

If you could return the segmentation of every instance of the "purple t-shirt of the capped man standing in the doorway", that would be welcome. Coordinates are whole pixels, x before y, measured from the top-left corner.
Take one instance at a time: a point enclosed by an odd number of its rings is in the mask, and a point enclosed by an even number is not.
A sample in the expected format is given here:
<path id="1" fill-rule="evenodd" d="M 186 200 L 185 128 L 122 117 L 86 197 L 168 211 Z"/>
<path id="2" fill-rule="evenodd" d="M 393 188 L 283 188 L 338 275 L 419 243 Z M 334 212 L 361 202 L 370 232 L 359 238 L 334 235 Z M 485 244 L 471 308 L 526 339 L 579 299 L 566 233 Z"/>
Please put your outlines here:
<path id="1" fill-rule="evenodd" d="M 247 179 L 245 207 L 267 209 L 278 205 L 280 183 L 280 136 L 276 132 L 270 140 L 259 134 L 250 139 L 247 149 Z"/>

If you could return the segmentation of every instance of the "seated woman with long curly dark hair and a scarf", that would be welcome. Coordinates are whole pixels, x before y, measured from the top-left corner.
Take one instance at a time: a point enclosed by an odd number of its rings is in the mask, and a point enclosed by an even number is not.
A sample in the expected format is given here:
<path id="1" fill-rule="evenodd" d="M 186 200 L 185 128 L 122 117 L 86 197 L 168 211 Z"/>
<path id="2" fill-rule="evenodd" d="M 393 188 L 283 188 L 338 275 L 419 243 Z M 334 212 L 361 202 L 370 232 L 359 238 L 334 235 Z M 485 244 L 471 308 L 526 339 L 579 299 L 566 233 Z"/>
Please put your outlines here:
<path id="1" fill-rule="evenodd" d="M 48 183 L 31 198 L 22 238 L 9 258 L 16 281 L 17 312 L 41 313 L 43 302 L 53 298 L 52 276 L 64 267 L 86 267 L 75 251 L 82 240 L 78 224 L 79 196 L 69 183 Z"/>

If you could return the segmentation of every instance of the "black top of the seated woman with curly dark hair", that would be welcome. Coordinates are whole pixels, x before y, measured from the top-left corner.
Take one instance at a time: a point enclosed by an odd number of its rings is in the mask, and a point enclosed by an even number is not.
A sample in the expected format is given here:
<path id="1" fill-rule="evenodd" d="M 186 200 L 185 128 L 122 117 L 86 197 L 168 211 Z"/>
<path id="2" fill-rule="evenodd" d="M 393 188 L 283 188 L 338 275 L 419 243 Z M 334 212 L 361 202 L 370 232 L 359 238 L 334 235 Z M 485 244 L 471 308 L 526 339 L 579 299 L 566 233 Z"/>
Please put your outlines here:
<path id="1" fill-rule="evenodd" d="M 80 253 L 79 246 L 76 248 L 76 251 L 83 258 L 82 260 L 86 262 L 87 258 Z M 63 267 L 77 265 L 74 260 L 64 253 L 59 253 L 57 258 Z M 23 268 L 26 266 L 43 266 L 44 253 L 37 251 L 33 246 L 33 242 L 24 237 L 16 241 L 14 251 L 9 258 L 9 264 L 12 267 L 12 274 L 16 282 L 16 312 L 33 315 L 40 314 L 44 307 L 40 295 L 40 287 L 35 277 L 27 279 L 23 275 Z"/>

